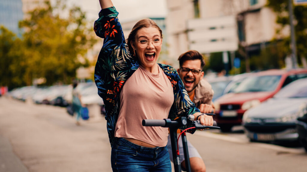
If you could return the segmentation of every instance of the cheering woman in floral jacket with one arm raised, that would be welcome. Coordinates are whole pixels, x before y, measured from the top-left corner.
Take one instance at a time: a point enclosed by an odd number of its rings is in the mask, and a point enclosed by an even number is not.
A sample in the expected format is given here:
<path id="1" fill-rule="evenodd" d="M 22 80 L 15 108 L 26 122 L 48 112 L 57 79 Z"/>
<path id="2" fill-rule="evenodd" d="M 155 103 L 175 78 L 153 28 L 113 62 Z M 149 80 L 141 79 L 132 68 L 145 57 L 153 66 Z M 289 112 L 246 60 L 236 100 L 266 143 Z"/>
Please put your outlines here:
<path id="1" fill-rule="evenodd" d="M 104 43 L 95 82 L 106 108 L 112 170 L 171 171 L 168 129 L 143 127 L 142 119 L 193 114 L 203 125 L 212 125 L 213 119 L 194 106 L 175 69 L 156 63 L 162 46 L 157 24 L 138 21 L 126 43 L 111 0 L 99 2 L 102 10 L 94 30 Z"/>

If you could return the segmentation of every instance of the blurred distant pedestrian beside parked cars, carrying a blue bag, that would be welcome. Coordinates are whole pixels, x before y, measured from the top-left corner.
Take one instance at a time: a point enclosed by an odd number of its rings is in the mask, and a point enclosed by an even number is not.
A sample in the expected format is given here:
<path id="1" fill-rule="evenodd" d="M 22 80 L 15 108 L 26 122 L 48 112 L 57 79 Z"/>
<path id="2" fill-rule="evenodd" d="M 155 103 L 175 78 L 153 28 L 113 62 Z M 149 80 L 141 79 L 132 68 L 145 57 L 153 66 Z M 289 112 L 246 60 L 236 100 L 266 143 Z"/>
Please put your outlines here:
<path id="1" fill-rule="evenodd" d="M 81 117 L 81 94 L 79 90 L 77 89 L 78 83 L 73 83 L 73 89 L 72 89 L 72 109 L 74 111 L 74 114 L 76 115 L 76 125 L 80 125 L 80 117 Z"/>

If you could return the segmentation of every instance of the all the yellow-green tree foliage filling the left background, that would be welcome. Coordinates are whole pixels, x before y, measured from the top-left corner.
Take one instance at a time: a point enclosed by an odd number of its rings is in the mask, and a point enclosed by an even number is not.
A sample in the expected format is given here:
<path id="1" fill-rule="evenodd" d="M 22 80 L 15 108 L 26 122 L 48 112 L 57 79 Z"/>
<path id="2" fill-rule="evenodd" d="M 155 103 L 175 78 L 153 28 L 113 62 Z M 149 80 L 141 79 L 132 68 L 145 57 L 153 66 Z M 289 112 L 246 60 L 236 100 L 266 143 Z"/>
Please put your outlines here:
<path id="1" fill-rule="evenodd" d="M 95 33 L 87 27 L 79 7 L 66 10 L 68 15 L 63 17 L 65 10 L 66 6 L 57 1 L 54 7 L 46 2 L 44 8 L 29 12 L 29 17 L 19 22 L 24 30 L 22 40 L 1 28 L 1 58 L 5 59 L 1 65 L 6 68 L 1 66 L 0 73 L 9 76 L 2 78 L 1 84 L 31 85 L 33 79 L 41 77 L 46 78 L 47 85 L 69 84 L 77 68 L 89 65 L 84 55 L 96 42 Z"/>

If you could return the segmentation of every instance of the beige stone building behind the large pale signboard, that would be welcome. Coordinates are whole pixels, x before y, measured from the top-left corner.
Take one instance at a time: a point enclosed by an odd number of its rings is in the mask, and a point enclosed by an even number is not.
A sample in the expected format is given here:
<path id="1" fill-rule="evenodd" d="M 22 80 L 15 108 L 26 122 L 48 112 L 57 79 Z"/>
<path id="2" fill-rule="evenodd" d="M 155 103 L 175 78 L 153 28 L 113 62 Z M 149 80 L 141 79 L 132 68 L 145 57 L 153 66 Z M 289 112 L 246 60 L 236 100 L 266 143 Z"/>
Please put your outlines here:
<path id="1" fill-rule="evenodd" d="M 169 57 L 190 49 L 235 51 L 238 44 L 247 54 L 259 53 L 273 38 L 290 33 L 286 28 L 276 35 L 276 14 L 265 5 L 266 0 L 167 0 Z"/>

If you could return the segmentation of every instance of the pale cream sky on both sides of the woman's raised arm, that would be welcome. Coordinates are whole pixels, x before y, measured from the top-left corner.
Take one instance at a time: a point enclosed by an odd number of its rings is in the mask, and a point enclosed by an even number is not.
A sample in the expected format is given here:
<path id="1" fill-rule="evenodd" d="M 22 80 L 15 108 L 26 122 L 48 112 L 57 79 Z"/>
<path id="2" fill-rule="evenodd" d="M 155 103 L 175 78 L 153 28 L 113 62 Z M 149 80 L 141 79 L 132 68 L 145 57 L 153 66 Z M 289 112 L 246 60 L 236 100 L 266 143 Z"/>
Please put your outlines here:
<path id="1" fill-rule="evenodd" d="M 96 20 L 100 11 L 99 0 L 67 0 L 87 12 L 87 18 Z M 166 0 L 113 0 L 120 21 L 146 17 L 166 17 Z"/>

